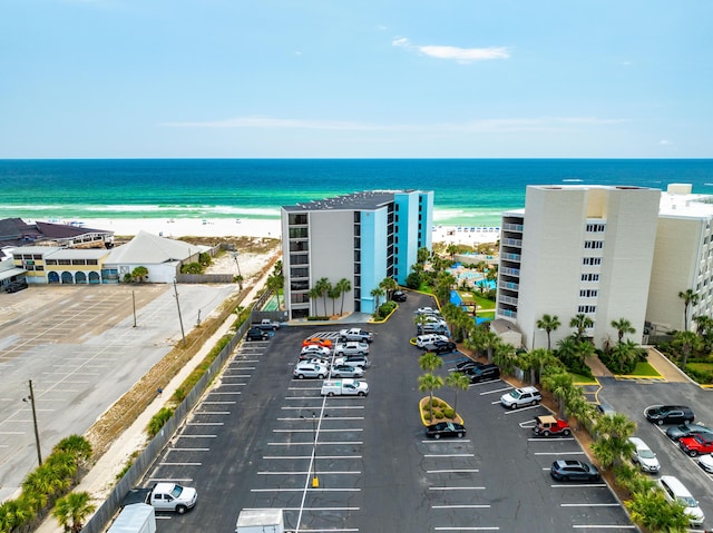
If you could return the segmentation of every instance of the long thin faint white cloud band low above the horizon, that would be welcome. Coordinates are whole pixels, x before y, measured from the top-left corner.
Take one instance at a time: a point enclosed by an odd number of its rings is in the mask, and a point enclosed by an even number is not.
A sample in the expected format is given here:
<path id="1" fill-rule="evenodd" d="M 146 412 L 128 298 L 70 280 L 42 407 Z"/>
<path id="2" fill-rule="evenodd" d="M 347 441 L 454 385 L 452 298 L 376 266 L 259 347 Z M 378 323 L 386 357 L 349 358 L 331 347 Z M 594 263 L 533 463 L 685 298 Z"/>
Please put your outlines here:
<path id="1" fill-rule="evenodd" d="M 318 129 L 340 131 L 460 131 L 460 132 L 512 132 L 512 131 L 556 131 L 572 129 L 575 126 L 607 126 L 627 122 L 628 119 L 597 117 L 538 117 L 481 119 L 467 122 L 439 124 L 372 124 L 340 120 L 297 120 L 273 117 L 238 117 L 204 122 L 166 122 L 163 126 L 174 128 L 260 128 L 260 129 Z M 663 141 L 662 141 L 663 144 Z"/>

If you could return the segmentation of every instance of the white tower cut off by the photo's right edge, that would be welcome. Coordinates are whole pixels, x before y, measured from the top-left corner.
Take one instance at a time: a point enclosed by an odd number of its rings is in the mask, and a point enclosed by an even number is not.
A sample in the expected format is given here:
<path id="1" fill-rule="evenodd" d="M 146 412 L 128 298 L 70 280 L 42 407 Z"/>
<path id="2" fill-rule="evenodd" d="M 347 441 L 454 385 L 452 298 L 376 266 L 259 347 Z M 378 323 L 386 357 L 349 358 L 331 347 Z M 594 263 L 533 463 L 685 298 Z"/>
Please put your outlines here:
<path id="1" fill-rule="evenodd" d="M 646 332 L 695 330 L 693 317 L 713 313 L 713 196 L 693 195 L 688 184 L 671 184 L 661 197 Z M 692 289 L 687 309 L 680 293 Z"/>

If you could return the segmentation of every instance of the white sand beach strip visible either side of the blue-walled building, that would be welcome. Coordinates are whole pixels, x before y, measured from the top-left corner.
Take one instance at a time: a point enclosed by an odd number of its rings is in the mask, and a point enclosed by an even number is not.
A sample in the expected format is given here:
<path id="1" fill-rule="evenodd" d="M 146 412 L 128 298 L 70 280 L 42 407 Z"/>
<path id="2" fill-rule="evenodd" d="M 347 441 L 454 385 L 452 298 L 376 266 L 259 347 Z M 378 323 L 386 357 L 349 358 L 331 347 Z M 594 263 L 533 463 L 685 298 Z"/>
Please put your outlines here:
<path id="1" fill-rule="evenodd" d="M 134 236 L 139 231 L 166 238 L 179 237 L 255 237 L 282 238 L 280 219 L 265 218 L 84 218 L 23 219 L 28 224 L 37 221 L 75 226 L 85 229 L 114 231 L 115 236 Z M 432 241 L 466 246 L 495 243 L 500 238 L 496 226 L 433 226 Z"/>

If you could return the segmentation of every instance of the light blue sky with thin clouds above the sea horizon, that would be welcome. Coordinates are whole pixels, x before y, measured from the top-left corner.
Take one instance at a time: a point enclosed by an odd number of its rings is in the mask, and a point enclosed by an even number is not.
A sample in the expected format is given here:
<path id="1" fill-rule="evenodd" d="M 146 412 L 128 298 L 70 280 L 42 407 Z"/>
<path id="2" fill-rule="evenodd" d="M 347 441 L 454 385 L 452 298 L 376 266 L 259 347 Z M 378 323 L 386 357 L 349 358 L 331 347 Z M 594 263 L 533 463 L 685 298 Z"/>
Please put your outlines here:
<path id="1" fill-rule="evenodd" d="M 711 0 L 2 0 L 0 158 L 713 157 Z"/>

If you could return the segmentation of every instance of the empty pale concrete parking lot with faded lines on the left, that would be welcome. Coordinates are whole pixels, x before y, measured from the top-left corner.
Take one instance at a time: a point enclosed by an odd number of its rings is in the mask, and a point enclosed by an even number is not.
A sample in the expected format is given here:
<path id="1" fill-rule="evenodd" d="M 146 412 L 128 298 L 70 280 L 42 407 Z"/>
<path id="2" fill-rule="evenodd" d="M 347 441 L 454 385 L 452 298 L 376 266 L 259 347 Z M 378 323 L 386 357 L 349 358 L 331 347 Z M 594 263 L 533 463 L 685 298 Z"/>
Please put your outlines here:
<path id="1" fill-rule="evenodd" d="M 186 333 L 233 286 L 179 285 Z M 134 327 L 134 300 L 136 327 Z M 42 455 L 82 434 L 180 340 L 173 286 L 30 287 L 0 294 L 0 501 L 37 466 L 32 379 Z"/>

